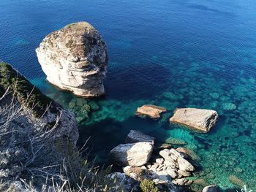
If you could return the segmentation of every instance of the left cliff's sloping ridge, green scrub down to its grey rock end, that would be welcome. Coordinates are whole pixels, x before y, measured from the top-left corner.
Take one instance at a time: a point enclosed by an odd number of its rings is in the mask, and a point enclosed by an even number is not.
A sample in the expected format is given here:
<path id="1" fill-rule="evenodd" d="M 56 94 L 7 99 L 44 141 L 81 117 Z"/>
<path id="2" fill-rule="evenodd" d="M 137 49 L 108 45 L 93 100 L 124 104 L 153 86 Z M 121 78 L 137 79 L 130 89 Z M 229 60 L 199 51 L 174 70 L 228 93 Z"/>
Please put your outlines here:
<path id="1" fill-rule="evenodd" d="M 74 144 L 77 142 L 78 128 L 72 112 L 42 94 L 9 64 L 0 64 L 0 77 L 0 98 L 8 90 L 8 96 L 2 101 L 3 104 L 15 99 L 17 106 L 24 108 L 24 118 L 28 122 L 39 124 L 45 131 L 54 127 L 51 139 L 65 138 Z"/>

